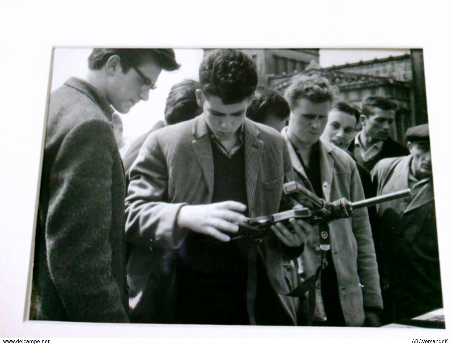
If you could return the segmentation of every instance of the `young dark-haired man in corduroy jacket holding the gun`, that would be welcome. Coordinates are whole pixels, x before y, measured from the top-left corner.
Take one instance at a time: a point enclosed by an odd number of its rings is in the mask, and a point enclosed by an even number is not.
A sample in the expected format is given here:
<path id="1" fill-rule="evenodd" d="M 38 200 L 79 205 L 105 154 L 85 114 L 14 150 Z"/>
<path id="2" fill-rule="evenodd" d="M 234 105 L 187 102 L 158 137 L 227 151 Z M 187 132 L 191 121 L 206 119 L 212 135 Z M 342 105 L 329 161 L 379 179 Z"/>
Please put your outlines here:
<path id="1" fill-rule="evenodd" d="M 293 177 L 286 144 L 245 119 L 257 73 L 244 53 L 212 52 L 199 79 L 202 115 L 152 133 L 129 175 L 131 319 L 294 325 L 297 300 L 278 292 L 296 286 L 290 258 L 311 226 L 292 221 L 292 233 L 277 224 L 260 243 L 235 238 L 245 216 L 279 211 L 282 184 Z M 159 318 L 170 301 L 174 317 Z"/>

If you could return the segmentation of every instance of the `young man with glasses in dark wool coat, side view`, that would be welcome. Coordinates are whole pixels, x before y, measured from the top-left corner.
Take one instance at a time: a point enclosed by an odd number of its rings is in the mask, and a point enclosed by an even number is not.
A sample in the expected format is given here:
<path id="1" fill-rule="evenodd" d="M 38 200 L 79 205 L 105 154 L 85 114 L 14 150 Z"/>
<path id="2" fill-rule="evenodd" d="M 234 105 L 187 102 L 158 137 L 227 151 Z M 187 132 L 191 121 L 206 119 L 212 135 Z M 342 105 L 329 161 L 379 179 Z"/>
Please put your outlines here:
<path id="1" fill-rule="evenodd" d="M 172 49 L 94 49 L 86 79 L 52 92 L 47 117 L 33 271 L 32 318 L 128 322 L 125 176 L 112 127 L 128 113 Z"/>

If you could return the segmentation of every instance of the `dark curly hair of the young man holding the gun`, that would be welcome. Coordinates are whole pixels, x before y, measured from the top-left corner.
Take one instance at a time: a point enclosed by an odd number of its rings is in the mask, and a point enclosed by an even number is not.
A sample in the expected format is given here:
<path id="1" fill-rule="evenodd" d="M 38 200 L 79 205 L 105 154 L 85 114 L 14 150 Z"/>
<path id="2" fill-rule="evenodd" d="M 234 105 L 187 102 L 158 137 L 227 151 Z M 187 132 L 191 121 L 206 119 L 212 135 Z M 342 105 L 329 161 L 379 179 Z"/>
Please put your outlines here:
<path id="1" fill-rule="evenodd" d="M 225 105 L 253 95 L 257 69 L 248 55 L 236 49 L 218 49 L 202 60 L 199 82 L 203 93 L 218 96 Z"/>

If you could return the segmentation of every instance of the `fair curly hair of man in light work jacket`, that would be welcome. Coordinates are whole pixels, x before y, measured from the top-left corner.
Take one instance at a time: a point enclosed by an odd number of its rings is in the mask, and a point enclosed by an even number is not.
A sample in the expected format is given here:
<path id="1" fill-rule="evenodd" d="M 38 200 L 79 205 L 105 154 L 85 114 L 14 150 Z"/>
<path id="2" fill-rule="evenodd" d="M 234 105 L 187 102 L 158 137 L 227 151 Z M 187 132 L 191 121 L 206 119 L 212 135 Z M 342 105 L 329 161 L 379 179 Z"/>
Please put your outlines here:
<path id="1" fill-rule="evenodd" d="M 290 86 L 285 90 L 285 99 L 288 101 L 290 108 L 296 107 L 299 99 L 305 98 L 313 103 L 323 103 L 336 98 L 336 91 L 326 78 L 322 78 L 318 74 L 299 75 L 291 79 Z"/>

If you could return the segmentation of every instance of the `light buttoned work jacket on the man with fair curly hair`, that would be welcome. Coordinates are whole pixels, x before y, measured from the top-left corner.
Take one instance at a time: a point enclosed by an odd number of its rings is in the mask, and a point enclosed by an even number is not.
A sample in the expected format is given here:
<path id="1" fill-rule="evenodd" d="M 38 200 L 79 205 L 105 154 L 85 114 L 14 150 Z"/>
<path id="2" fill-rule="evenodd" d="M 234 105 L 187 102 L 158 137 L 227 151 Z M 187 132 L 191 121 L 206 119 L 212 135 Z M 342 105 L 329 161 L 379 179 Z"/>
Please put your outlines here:
<path id="1" fill-rule="evenodd" d="M 282 131 L 295 170 L 295 180 L 314 193 L 295 147 Z M 320 139 L 319 160 L 323 198 L 332 202 L 345 197 L 351 202 L 364 199 L 364 191 L 354 160 L 340 148 Z M 335 266 L 341 308 L 347 326 L 362 326 L 364 306 L 382 309 L 379 274 L 377 272 L 371 226 L 365 208 L 357 209 L 349 219 L 334 220 L 329 224 L 331 253 Z M 308 278 L 320 266 L 318 227 L 311 234 L 300 259 L 302 276 Z M 331 262 L 329 262 L 331 263 Z M 321 285 L 316 286 L 315 318 L 324 319 Z"/>

